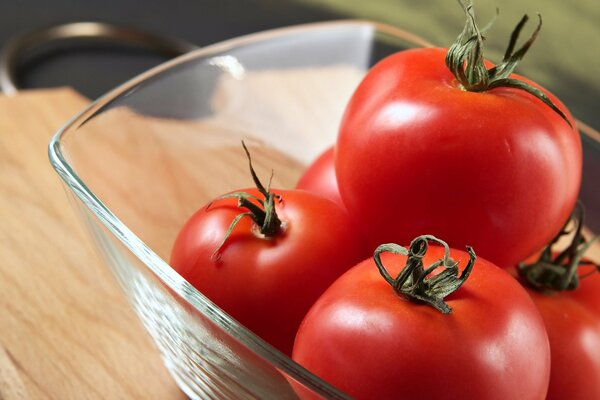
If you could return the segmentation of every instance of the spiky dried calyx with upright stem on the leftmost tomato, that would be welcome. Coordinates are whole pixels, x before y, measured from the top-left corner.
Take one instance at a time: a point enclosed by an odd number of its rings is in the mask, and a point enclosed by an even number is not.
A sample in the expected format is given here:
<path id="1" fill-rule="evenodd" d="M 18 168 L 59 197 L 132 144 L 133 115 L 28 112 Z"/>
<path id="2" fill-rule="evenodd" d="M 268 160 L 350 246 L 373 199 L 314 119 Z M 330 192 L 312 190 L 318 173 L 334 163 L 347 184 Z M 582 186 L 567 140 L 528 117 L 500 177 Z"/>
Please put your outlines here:
<path id="1" fill-rule="evenodd" d="M 248 151 L 244 141 L 242 141 L 242 147 L 244 148 L 246 157 L 248 158 L 248 165 L 250 168 L 250 174 L 252 175 L 252 180 L 254 181 L 256 188 L 263 198 L 261 199 L 258 196 L 246 192 L 233 192 L 218 197 L 218 199 L 238 199 L 238 207 L 245 208 L 248 210 L 248 212 L 240 213 L 233 219 L 227 228 L 227 231 L 225 232 L 223 240 L 213 252 L 213 257 L 219 254 L 221 248 L 223 245 L 225 245 L 225 242 L 231 235 L 233 228 L 235 228 L 238 222 L 245 217 L 249 217 L 254 221 L 258 227 L 259 233 L 263 238 L 266 239 L 277 235 L 282 228 L 282 221 L 279 219 L 279 216 L 275 211 L 275 201 L 281 201 L 281 196 L 271 192 L 271 180 L 273 179 L 273 173 L 271 173 L 271 177 L 269 178 L 269 184 L 267 187 L 265 187 L 254 171 L 254 167 L 252 166 L 252 157 L 250 156 L 250 152 Z M 210 207 L 210 204 L 208 207 Z"/>

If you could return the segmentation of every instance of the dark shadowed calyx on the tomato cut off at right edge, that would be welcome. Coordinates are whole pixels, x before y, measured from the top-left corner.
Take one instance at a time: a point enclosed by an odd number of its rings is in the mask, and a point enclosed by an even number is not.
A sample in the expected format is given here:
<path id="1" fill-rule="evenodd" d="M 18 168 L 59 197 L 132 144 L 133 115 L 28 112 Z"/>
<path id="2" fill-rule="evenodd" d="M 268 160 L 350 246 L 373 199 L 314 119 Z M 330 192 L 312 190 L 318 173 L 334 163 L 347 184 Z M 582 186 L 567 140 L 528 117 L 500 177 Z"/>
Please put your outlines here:
<path id="1" fill-rule="evenodd" d="M 544 247 L 537 261 L 531 264 L 521 263 L 518 268 L 519 277 L 527 285 L 540 291 L 560 292 L 575 290 L 581 279 L 600 271 L 600 265 L 586 261 L 583 256 L 587 249 L 600 238 L 596 236 L 588 240 L 583 235 L 585 211 L 577 202 L 571 217 L 558 234 Z M 565 236 L 572 235 L 571 243 L 561 252 L 553 247 Z M 582 266 L 593 266 L 591 272 L 579 274 Z"/>

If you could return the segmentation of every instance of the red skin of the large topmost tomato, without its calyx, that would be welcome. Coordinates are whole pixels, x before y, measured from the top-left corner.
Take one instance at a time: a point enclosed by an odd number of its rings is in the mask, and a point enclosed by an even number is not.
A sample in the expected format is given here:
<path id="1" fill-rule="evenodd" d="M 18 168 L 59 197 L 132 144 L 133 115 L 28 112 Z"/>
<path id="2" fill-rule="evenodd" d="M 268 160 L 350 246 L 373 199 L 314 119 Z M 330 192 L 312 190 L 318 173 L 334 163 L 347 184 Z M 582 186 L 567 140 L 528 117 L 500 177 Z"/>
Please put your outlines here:
<path id="1" fill-rule="evenodd" d="M 581 181 L 580 138 L 524 91 L 461 90 L 445 54 L 399 52 L 367 74 L 340 126 L 340 194 L 373 244 L 428 232 L 514 266 L 569 217 Z"/>

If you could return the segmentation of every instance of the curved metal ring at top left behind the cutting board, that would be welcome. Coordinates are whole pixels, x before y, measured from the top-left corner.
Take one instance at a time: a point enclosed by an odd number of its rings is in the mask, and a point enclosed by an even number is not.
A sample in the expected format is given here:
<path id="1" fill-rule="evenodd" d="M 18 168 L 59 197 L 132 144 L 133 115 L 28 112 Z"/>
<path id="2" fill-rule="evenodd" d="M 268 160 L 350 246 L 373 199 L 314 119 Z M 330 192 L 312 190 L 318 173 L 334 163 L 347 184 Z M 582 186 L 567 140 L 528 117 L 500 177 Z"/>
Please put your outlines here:
<path id="1" fill-rule="evenodd" d="M 185 40 L 102 22 L 73 22 L 57 25 L 9 40 L 0 52 L 0 89 L 7 95 L 15 94 L 18 91 L 17 62 L 25 51 L 51 42 L 73 39 L 100 39 L 130 44 L 167 57 L 175 57 L 198 48 Z"/>

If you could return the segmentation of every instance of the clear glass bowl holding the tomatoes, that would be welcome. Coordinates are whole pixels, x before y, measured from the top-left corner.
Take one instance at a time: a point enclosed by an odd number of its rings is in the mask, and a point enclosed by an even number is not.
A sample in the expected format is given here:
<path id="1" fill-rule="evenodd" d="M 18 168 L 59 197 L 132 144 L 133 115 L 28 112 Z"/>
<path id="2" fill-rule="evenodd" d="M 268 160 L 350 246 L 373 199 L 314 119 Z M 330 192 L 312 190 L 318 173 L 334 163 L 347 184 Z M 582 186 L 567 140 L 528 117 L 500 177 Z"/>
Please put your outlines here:
<path id="1" fill-rule="evenodd" d="M 348 398 L 228 316 L 167 260 L 194 211 L 250 185 L 241 140 L 259 176 L 272 169 L 273 187 L 293 187 L 334 143 L 364 73 L 390 53 L 428 45 L 364 21 L 253 34 L 154 68 L 92 103 L 54 136 L 52 165 L 188 396 L 296 399 L 294 381 L 315 396 Z M 593 172 L 600 142 L 586 129 L 592 154 L 585 168 Z M 594 175 L 585 174 L 582 195 L 597 204 L 595 185 L 586 184 Z"/>

